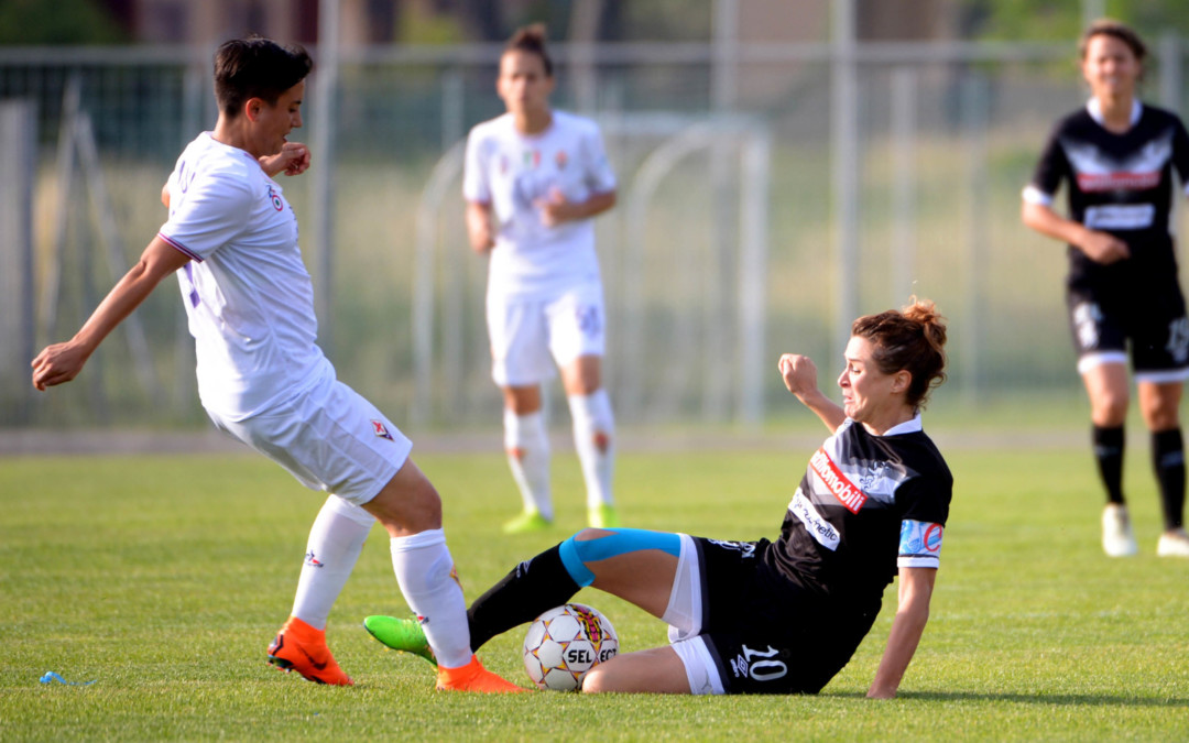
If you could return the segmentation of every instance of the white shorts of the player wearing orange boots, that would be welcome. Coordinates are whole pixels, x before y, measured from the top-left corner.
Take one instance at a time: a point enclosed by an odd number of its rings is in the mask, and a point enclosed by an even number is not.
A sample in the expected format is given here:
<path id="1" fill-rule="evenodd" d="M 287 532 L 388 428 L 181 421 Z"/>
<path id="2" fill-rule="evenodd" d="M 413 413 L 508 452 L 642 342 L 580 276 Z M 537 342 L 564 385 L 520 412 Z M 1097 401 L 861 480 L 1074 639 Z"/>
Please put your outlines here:
<path id="1" fill-rule="evenodd" d="M 413 442 L 333 376 L 243 421 L 207 411 L 216 428 L 288 470 L 303 485 L 363 505 L 404 466 Z"/>

